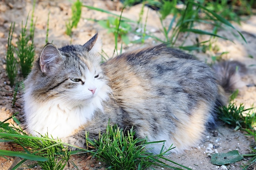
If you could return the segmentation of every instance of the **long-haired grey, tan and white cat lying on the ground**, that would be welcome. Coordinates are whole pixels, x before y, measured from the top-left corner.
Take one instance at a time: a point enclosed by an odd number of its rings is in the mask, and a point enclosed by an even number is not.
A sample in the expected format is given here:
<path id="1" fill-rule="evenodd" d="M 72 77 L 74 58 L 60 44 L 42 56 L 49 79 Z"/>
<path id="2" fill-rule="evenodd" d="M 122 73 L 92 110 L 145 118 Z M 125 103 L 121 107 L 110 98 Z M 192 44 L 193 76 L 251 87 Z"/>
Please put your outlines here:
<path id="1" fill-rule="evenodd" d="M 238 64 L 226 62 L 213 71 L 166 44 L 126 52 L 102 64 L 100 51 L 98 34 L 84 45 L 43 48 L 24 82 L 30 134 L 50 134 L 84 148 L 85 132 L 98 139 L 110 122 L 126 130 L 134 127 L 136 137 L 165 141 L 166 148 L 175 146 L 171 152 L 182 152 L 215 126 L 218 107 L 227 102 L 224 89 L 235 86 L 229 80 L 236 72 L 222 75 L 222 70 L 228 73 Z M 161 149 L 154 145 L 150 152 Z"/>

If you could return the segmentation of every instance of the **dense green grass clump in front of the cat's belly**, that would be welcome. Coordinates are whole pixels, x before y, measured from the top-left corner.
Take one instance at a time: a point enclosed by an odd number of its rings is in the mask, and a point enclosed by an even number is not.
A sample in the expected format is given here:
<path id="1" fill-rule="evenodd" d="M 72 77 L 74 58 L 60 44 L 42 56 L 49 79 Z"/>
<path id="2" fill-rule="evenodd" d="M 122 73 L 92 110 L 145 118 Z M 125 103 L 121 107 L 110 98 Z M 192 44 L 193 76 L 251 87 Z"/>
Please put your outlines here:
<path id="1" fill-rule="evenodd" d="M 99 140 L 87 140 L 89 145 L 96 148 L 91 151 L 94 157 L 106 163 L 107 169 L 110 170 L 144 170 L 151 166 L 175 168 L 159 159 L 164 159 L 182 168 L 189 169 L 164 157 L 173 147 L 164 150 L 163 145 L 159 154 L 147 152 L 147 147 L 150 147 L 151 144 L 160 144 L 164 141 L 147 142 L 146 139 L 135 138 L 135 131 L 133 129 L 128 130 L 127 134 L 125 134 L 117 125 L 108 125 L 106 133 L 99 135 Z"/>

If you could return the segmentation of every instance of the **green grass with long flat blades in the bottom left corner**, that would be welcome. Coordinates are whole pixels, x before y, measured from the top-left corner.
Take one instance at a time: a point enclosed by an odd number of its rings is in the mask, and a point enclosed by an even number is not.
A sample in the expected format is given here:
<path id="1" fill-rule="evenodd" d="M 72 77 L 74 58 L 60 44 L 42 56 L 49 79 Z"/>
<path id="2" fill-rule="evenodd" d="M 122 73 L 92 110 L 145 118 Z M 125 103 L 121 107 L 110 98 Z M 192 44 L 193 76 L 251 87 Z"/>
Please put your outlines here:
<path id="1" fill-rule="evenodd" d="M 18 113 L 16 113 L 18 114 Z M 70 154 L 78 154 L 78 151 L 69 151 L 67 143 L 55 140 L 47 134 L 35 137 L 27 135 L 20 127 L 5 123 L 9 119 L 13 119 L 19 123 L 15 115 L 0 122 L 0 142 L 16 143 L 16 147 L 23 149 L 15 152 L 9 150 L 0 150 L 1 156 L 15 156 L 23 158 L 13 169 L 18 168 L 27 160 L 37 161 L 38 165 L 44 170 L 63 170 L 67 161 L 70 159 Z M 75 147 L 75 146 L 72 146 Z M 85 151 L 88 152 L 88 151 Z"/>

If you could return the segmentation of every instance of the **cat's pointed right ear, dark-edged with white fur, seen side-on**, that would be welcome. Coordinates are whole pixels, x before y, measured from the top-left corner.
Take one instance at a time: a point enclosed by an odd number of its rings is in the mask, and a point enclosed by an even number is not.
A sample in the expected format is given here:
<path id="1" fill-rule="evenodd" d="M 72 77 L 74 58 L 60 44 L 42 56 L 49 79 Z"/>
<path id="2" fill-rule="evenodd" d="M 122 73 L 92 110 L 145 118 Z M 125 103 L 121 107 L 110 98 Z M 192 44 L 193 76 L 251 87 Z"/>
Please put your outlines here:
<path id="1" fill-rule="evenodd" d="M 101 46 L 102 43 L 98 33 L 96 33 L 88 42 L 83 45 L 83 47 L 85 47 L 90 53 L 101 52 Z"/>

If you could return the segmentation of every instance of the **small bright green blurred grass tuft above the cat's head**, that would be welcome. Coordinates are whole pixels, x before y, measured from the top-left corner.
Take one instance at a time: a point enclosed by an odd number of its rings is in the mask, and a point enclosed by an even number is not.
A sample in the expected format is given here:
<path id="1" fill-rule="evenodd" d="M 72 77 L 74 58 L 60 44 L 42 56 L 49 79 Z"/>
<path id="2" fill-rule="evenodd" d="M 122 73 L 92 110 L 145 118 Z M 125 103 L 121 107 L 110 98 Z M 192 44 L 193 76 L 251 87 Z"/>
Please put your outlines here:
<path id="1" fill-rule="evenodd" d="M 77 26 L 80 18 L 81 18 L 81 12 L 82 12 L 82 2 L 80 0 L 77 0 L 72 4 L 72 17 L 71 19 L 66 23 L 66 34 L 68 36 L 71 36 L 72 34 L 72 28 Z"/>

